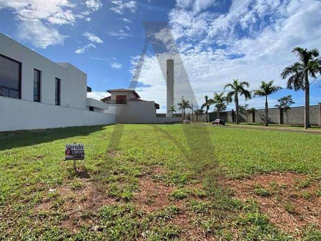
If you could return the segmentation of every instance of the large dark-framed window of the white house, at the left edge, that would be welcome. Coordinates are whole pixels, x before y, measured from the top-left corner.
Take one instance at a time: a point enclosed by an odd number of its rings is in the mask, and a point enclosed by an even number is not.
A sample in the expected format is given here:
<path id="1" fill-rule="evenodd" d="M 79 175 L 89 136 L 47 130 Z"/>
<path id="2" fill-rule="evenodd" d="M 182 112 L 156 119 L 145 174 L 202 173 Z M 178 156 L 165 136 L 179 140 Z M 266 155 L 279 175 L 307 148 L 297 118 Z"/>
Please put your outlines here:
<path id="1" fill-rule="evenodd" d="M 4 55 L 0 55 L 0 96 L 21 96 L 21 63 Z"/>

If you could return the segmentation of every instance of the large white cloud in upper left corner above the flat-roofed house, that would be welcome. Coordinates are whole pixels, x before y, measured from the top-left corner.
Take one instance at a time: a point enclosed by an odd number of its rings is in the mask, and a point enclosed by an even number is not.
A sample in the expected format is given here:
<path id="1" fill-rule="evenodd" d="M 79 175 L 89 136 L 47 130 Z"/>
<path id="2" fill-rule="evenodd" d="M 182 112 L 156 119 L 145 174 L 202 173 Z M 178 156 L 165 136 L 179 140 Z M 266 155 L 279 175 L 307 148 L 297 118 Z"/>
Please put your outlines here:
<path id="1" fill-rule="evenodd" d="M 19 39 L 39 48 L 64 43 L 66 36 L 59 33 L 57 25 L 74 25 L 77 19 L 90 21 L 84 17 L 90 13 L 75 13 L 76 7 L 71 0 L 0 0 L 0 9 L 8 8 L 16 15 Z"/>

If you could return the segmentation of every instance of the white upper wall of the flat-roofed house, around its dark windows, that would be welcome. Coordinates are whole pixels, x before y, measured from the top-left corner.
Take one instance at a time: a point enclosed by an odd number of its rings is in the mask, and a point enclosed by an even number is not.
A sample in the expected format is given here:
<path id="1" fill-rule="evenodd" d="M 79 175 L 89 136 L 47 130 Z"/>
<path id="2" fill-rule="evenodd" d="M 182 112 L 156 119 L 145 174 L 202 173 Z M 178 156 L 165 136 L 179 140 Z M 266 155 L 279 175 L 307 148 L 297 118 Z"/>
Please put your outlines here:
<path id="1" fill-rule="evenodd" d="M 87 76 L 68 63 L 54 63 L 0 34 L 0 54 L 22 63 L 21 99 L 33 101 L 34 69 L 41 71 L 40 102 L 55 104 L 55 78 L 61 79 L 61 106 L 88 109 Z"/>

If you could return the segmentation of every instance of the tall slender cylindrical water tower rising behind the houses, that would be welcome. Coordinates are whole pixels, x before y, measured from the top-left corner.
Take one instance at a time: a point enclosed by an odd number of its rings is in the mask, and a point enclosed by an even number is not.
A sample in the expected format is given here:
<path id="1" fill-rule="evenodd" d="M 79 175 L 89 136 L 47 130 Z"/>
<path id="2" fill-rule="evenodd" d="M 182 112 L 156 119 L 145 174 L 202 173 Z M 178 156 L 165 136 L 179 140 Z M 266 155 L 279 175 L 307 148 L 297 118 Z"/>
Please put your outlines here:
<path id="1" fill-rule="evenodd" d="M 174 105 L 174 60 L 168 59 L 166 64 L 166 116 L 172 117 L 173 112 L 170 109 Z"/>

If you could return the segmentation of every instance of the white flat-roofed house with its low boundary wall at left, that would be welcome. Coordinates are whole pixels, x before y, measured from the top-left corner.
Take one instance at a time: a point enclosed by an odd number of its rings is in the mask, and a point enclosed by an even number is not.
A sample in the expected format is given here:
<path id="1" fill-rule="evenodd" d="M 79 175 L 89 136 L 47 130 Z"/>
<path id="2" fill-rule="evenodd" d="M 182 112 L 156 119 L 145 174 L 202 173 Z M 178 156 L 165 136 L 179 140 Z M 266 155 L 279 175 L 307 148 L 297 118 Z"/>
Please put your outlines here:
<path id="1" fill-rule="evenodd" d="M 86 73 L 0 34 L 0 131 L 115 123 L 87 90 Z"/>

